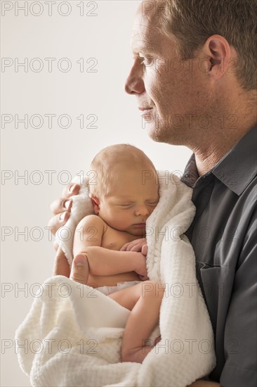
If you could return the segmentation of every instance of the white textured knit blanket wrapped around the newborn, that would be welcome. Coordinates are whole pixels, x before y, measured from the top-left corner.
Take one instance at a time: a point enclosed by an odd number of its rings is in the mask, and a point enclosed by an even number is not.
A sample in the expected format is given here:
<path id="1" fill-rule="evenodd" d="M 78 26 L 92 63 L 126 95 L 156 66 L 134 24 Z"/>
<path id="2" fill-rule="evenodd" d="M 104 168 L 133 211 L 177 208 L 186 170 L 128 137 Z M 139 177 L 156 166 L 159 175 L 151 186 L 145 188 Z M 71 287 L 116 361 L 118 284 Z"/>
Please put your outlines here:
<path id="1" fill-rule="evenodd" d="M 18 344 L 27 342 L 17 352 L 32 386 L 181 387 L 215 366 L 213 331 L 196 279 L 195 255 L 183 234 L 195 215 L 192 190 L 172 174 L 159 182 L 160 201 L 147 220 L 147 269 L 150 279 L 166 286 L 159 319 L 162 340 L 143 364 L 120 362 L 129 310 L 89 286 L 51 277 L 15 335 Z M 92 212 L 87 195 L 84 184 L 74 197 L 67 229 L 59 233 L 69 261 L 74 227 Z"/>

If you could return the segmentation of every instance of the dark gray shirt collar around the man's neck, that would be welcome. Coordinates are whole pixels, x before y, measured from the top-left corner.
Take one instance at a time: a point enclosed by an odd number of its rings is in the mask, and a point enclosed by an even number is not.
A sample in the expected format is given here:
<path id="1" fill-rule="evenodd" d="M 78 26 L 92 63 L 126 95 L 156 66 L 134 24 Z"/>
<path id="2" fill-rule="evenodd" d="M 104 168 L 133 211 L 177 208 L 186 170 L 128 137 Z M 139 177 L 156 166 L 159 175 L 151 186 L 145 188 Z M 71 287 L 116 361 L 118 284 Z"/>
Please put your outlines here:
<path id="1" fill-rule="evenodd" d="M 257 174 L 257 126 L 247 132 L 230 151 L 206 173 L 212 173 L 238 196 Z M 199 178 L 195 155 L 192 154 L 181 180 L 194 186 Z"/>

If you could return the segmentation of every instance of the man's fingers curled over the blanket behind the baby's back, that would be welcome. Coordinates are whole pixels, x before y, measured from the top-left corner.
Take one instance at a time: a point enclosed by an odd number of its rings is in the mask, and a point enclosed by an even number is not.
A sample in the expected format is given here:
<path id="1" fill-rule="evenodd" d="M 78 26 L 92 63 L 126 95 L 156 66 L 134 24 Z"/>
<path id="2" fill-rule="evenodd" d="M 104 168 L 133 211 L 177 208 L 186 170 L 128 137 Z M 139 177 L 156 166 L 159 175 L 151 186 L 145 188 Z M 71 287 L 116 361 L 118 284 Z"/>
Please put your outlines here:
<path id="1" fill-rule="evenodd" d="M 49 220 L 48 227 L 53 227 L 53 229 L 51 229 L 53 235 L 55 235 L 56 231 L 64 226 L 69 219 L 70 210 L 72 208 L 72 200 L 70 200 L 70 197 L 79 194 L 79 189 L 79 184 L 68 184 L 62 191 L 62 198 L 51 203 L 51 211 L 54 216 Z M 55 245 L 55 248 L 57 250 L 58 246 Z"/>

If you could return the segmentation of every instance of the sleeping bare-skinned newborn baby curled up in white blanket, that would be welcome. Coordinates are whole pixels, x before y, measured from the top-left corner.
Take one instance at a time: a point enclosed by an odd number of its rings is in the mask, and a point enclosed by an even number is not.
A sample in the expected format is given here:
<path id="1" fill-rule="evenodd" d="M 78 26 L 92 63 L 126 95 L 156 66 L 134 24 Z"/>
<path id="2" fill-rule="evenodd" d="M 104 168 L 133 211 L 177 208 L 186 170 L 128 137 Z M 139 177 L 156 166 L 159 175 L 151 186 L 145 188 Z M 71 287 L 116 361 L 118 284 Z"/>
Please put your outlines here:
<path id="1" fill-rule="evenodd" d="M 145 237 L 145 222 L 159 201 L 157 172 L 143 151 L 126 144 L 100 151 L 91 170 L 96 174 L 90 184 L 95 215 L 79 222 L 73 253 L 86 256 L 88 285 L 131 310 L 121 360 L 143 362 L 153 348 L 144 343 L 159 321 L 164 287 L 142 281 L 147 279 L 143 253 L 120 249 L 125 243 Z"/>

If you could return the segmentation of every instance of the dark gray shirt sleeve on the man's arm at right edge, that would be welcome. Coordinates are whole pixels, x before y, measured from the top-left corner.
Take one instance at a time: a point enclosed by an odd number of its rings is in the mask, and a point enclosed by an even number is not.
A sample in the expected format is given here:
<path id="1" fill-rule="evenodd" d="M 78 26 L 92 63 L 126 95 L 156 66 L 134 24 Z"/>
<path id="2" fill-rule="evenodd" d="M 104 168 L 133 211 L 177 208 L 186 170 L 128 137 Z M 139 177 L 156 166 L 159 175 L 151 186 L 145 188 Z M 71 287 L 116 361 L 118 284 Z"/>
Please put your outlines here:
<path id="1" fill-rule="evenodd" d="M 239 255 L 225 322 L 224 387 L 257 386 L 257 212 L 251 217 Z"/>

